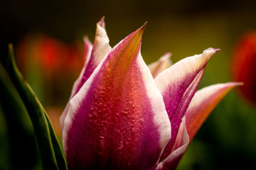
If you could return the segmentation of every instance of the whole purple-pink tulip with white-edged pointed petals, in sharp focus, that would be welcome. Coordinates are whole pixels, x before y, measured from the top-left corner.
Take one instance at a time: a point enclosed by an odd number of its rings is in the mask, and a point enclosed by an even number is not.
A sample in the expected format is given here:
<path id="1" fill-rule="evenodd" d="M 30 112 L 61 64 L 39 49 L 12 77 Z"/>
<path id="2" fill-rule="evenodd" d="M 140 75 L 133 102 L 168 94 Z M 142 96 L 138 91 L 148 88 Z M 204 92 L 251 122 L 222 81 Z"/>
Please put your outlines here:
<path id="1" fill-rule="evenodd" d="M 70 169 L 175 169 L 205 118 L 239 85 L 196 92 L 214 48 L 173 65 L 167 53 L 148 67 L 144 29 L 111 48 L 102 18 L 93 45 L 85 39 L 86 62 L 60 117 Z"/>

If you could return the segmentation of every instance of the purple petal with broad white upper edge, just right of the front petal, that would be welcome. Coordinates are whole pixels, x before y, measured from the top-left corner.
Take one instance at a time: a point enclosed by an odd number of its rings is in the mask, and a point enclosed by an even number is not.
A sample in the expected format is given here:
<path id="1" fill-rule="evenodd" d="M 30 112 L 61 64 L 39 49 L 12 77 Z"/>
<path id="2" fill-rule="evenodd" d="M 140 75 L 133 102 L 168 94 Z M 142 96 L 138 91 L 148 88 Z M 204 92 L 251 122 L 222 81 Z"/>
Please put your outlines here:
<path id="1" fill-rule="evenodd" d="M 172 139 L 164 149 L 160 161 L 170 155 L 182 117 L 202 79 L 207 62 L 216 51 L 218 49 L 208 48 L 200 55 L 180 60 L 156 77 L 156 85 L 163 96 L 172 125 Z"/>

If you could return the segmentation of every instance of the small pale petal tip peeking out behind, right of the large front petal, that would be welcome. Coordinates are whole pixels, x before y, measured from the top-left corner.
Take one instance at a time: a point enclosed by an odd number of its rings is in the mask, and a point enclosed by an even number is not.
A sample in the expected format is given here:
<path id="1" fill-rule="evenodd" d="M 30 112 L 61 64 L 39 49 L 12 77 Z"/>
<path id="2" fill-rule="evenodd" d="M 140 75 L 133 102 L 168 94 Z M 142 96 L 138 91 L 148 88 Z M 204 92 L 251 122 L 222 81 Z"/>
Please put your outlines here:
<path id="1" fill-rule="evenodd" d="M 153 78 L 156 78 L 156 76 L 164 71 L 164 69 L 172 66 L 172 61 L 170 60 L 171 55 L 172 53 L 170 52 L 164 53 L 164 55 L 159 60 L 148 64 L 148 68 L 150 69 Z"/>

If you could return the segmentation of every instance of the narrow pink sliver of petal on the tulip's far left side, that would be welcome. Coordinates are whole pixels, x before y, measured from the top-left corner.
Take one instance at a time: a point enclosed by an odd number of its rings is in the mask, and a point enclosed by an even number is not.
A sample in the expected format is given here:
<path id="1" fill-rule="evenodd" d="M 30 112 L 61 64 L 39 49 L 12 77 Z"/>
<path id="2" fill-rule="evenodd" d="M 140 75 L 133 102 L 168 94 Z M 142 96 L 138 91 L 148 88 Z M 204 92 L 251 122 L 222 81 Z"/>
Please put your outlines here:
<path id="1" fill-rule="evenodd" d="M 79 77 L 77 78 L 77 80 L 75 81 L 75 83 L 72 87 L 72 92 L 71 92 L 70 99 L 72 99 L 72 97 L 76 93 L 77 86 L 79 85 L 79 83 L 83 79 L 84 70 L 85 70 L 85 68 L 88 64 L 88 61 L 90 60 L 91 53 L 92 53 L 92 43 L 88 39 L 88 37 L 85 36 L 84 37 L 84 66 L 83 66 L 83 69 L 82 69 L 81 73 L 79 74 Z M 70 99 L 68 101 L 70 101 Z M 61 129 L 63 129 L 63 123 L 64 123 L 64 120 L 65 120 L 65 117 L 67 116 L 68 107 L 69 107 L 69 104 L 67 104 L 65 110 L 63 111 L 63 113 L 61 114 L 61 117 L 60 117 Z"/>

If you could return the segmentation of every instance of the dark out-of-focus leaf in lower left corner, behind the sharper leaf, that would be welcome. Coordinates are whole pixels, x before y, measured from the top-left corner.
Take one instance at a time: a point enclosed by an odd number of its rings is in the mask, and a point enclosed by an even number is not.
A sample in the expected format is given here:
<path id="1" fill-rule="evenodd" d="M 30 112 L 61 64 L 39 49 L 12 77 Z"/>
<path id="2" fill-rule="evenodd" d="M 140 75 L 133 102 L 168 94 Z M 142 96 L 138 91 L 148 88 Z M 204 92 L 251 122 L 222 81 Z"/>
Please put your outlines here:
<path id="1" fill-rule="evenodd" d="M 33 127 L 28 112 L 2 64 L 0 64 L 0 91 L 0 129 L 4 124 L 8 133 L 7 138 L 4 138 L 4 140 L 8 139 L 8 143 L 3 145 L 1 141 L 3 148 L 2 150 L 0 148 L 0 159 L 2 162 L 4 159 L 8 159 L 8 157 L 10 158 L 5 163 L 10 168 L 0 167 L 0 169 L 35 169 L 35 166 L 40 166 L 40 164 L 38 164 L 39 152 L 36 146 Z M 1 117 L 1 114 L 3 114 L 3 117 Z M 3 136 L 2 138 L 0 136 L 0 140 L 3 140 Z M 8 148 L 9 152 L 3 153 L 6 148 Z"/>

